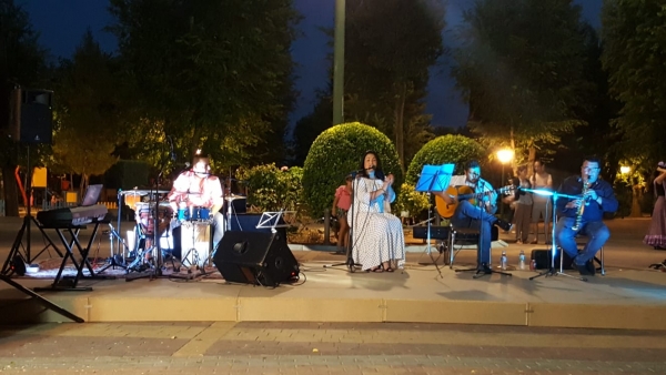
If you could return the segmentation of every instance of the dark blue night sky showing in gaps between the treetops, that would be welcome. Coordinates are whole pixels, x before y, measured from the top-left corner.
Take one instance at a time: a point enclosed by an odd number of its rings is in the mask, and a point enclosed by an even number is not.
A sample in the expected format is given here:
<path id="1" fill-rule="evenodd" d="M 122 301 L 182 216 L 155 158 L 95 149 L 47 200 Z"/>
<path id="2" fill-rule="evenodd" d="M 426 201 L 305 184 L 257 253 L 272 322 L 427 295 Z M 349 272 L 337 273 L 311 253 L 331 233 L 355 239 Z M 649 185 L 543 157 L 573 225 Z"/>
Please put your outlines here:
<path id="1" fill-rule="evenodd" d="M 354 0 L 346 0 L 354 1 Z M 603 0 L 576 0 L 583 6 L 583 16 L 595 27 L 601 26 L 599 10 Z M 461 24 L 462 13 L 473 0 L 448 0 L 446 12 L 447 28 L 444 32 L 445 45 L 454 43 L 453 30 Z M 70 58 L 81 42 L 88 28 L 102 49 L 113 52 L 115 38 L 102 29 L 113 22 L 107 12 L 108 0 L 17 0 L 30 14 L 34 30 L 40 32 L 40 43 L 48 48 L 53 59 Z M 292 47 L 294 60 L 299 64 L 296 89 L 301 92 L 297 107 L 292 113 L 292 123 L 310 113 L 315 103 L 315 90 L 326 84 L 326 38 L 320 27 L 332 28 L 335 14 L 335 0 L 294 0 L 304 19 L 299 24 L 303 37 Z M 463 126 L 467 110 L 460 94 L 454 90 L 450 77 L 451 61 L 431 71 L 430 94 L 426 111 L 433 114 L 434 125 Z"/>

